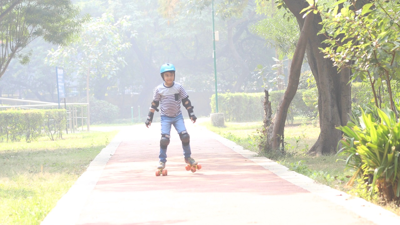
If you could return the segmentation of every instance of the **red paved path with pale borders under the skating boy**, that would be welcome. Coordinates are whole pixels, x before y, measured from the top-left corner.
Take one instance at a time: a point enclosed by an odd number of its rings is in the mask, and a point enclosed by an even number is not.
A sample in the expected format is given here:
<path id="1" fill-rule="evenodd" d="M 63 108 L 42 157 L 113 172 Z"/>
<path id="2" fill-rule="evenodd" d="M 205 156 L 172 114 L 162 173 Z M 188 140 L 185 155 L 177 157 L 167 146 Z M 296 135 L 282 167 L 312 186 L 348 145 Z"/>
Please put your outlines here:
<path id="1" fill-rule="evenodd" d="M 184 169 L 173 130 L 168 176 L 156 177 L 160 124 L 124 127 L 41 224 L 400 224 L 381 207 L 185 123 L 201 170 Z"/>

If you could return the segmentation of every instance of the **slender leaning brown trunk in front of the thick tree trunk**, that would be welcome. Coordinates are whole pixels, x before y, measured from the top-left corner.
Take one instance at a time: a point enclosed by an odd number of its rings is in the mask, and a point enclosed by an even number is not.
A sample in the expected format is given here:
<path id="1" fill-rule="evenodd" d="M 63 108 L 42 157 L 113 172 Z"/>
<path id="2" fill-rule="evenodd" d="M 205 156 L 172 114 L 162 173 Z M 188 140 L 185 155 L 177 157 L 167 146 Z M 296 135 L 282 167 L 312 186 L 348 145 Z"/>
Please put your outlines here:
<path id="1" fill-rule="evenodd" d="M 274 124 L 272 128 L 272 135 L 270 139 L 271 151 L 278 150 L 280 143 L 283 141 L 285 121 L 288 114 L 288 108 L 290 102 L 292 102 L 294 95 L 297 92 L 301 67 L 303 64 L 304 54 L 306 52 L 306 46 L 309 39 L 309 30 L 312 26 L 314 14 L 310 13 L 306 16 L 304 26 L 302 27 L 300 38 L 296 45 L 292 60 L 292 70 L 290 71 L 288 78 L 288 87 L 286 88 L 285 94 L 278 104 L 278 110 L 274 117 Z M 267 140 L 268 141 L 268 140 Z"/>

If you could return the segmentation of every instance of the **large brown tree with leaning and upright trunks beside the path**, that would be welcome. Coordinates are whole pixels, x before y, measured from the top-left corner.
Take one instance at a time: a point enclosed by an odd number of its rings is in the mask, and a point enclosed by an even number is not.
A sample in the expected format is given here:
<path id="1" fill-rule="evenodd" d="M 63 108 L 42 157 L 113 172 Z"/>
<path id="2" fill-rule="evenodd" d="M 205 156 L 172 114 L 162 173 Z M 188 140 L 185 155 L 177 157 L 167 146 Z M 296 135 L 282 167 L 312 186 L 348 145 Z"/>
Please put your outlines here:
<path id="1" fill-rule="evenodd" d="M 317 13 L 311 19 L 309 16 L 304 17 L 304 12 L 302 12 L 304 8 L 308 8 L 310 5 L 314 5 L 313 0 L 279 0 L 277 6 L 292 13 L 300 30 L 308 34 L 303 45 L 300 44 L 300 37 L 296 50 L 299 49 L 301 53 L 300 49 L 306 47 L 308 64 L 318 88 L 318 111 L 321 131 L 316 143 L 308 150 L 308 154 L 320 155 L 336 152 L 338 141 L 342 137 L 342 133 L 336 127 L 346 125 L 349 119 L 351 109 L 350 69 L 343 69 L 338 72 L 332 61 L 324 58 L 320 48 L 324 48 L 323 42 L 327 38 L 320 34 L 322 29 L 320 24 L 322 22 L 321 15 Z M 309 21 L 311 20 L 310 24 L 306 23 L 307 18 L 309 18 Z M 289 75 L 289 82 L 292 80 L 293 87 L 290 90 L 286 90 L 274 117 L 272 134 L 270 139 L 266 140 L 270 150 L 278 149 L 281 141 L 283 141 L 287 107 L 292 100 L 291 96 L 297 90 L 300 76 L 300 71 L 296 70 L 300 69 L 301 66 L 296 68 L 295 65 L 301 65 L 302 61 L 302 54 L 293 57 L 292 70 Z"/>

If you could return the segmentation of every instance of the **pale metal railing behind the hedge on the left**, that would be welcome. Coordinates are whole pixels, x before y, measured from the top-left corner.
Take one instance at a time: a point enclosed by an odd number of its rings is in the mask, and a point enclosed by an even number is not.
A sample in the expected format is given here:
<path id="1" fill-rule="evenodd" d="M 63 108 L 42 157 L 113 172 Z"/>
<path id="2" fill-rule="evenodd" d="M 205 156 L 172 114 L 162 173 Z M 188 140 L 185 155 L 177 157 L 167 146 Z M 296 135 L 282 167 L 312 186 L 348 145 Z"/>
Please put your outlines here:
<path id="1" fill-rule="evenodd" d="M 3 105 L 6 102 L 8 105 Z M 16 104 L 19 102 L 25 102 L 28 104 Z M 13 105 L 15 103 L 15 105 Z M 32 103 L 32 104 L 31 104 Z M 19 109 L 48 109 L 48 108 L 58 108 L 58 103 L 54 102 L 41 102 L 34 100 L 25 100 L 25 99 L 17 99 L 17 98 L 0 98 L 0 110 L 5 110 L 7 108 L 19 108 Z M 84 120 L 86 122 L 87 128 L 86 131 L 90 131 L 90 117 L 88 115 L 88 110 L 86 110 L 86 117 L 84 117 L 84 106 L 88 107 L 88 103 L 64 103 L 63 104 L 67 113 L 67 126 L 66 132 L 68 134 L 68 129 L 70 132 L 75 133 L 79 129 L 78 119 L 80 120 L 80 125 L 82 127 L 82 131 L 84 131 Z M 82 105 L 80 107 L 80 114 L 78 113 L 78 105 Z"/>

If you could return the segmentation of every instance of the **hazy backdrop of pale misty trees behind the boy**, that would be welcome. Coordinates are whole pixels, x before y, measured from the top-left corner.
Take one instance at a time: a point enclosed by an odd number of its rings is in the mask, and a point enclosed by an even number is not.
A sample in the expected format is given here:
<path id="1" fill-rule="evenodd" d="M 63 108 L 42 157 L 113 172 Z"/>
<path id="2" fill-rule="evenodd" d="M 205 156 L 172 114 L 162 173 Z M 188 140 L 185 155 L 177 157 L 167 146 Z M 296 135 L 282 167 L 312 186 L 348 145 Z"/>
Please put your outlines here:
<path id="1" fill-rule="evenodd" d="M 138 106 L 143 117 L 154 87 L 163 82 L 160 66 L 169 62 L 175 65 L 176 82 L 188 91 L 196 115 L 211 112 L 215 93 L 211 1 L 172 1 L 176 5 L 170 8 L 155 0 L 72 2 L 82 14 L 93 17 L 85 24 L 80 43 L 59 48 L 34 40 L 26 50 L 32 50 L 30 63 L 22 66 L 13 60 L 0 78 L 3 97 L 57 102 L 55 66 L 61 66 L 66 72 L 66 101 L 86 102 L 90 68 L 90 98 L 117 105 L 121 119 L 131 117 L 131 107 L 137 117 Z M 267 16 L 255 13 L 253 1 L 240 10 L 221 2 L 214 1 L 218 93 L 276 89 L 270 82 L 276 76 L 275 50 L 267 48 L 266 40 L 252 28 Z"/>

